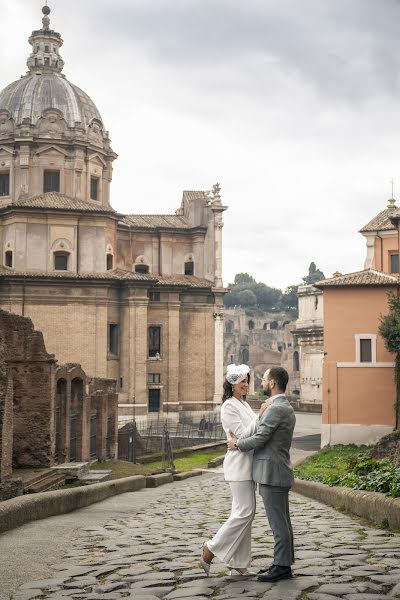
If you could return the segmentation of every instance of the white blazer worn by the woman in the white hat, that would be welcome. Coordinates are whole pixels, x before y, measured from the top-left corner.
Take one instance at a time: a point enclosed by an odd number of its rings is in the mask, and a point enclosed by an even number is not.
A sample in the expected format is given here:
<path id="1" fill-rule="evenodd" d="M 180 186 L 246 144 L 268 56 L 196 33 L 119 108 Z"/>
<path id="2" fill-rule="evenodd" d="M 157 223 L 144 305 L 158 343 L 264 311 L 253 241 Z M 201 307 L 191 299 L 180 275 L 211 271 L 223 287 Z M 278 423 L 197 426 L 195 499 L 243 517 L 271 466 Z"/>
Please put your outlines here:
<path id="1" fill-rule="evenodd" d="M 228 398 L 221 408 L 222 427 L 229 439 L 231 431 L 237 438 L 249 437 L 257 430 L 257 416 L 246 401 Z M 251 468 L 253 450 L 240 452 L 229 451 L 224 458 L 224 477 L 226 481 L 248 481 L 253 479 Z"/>

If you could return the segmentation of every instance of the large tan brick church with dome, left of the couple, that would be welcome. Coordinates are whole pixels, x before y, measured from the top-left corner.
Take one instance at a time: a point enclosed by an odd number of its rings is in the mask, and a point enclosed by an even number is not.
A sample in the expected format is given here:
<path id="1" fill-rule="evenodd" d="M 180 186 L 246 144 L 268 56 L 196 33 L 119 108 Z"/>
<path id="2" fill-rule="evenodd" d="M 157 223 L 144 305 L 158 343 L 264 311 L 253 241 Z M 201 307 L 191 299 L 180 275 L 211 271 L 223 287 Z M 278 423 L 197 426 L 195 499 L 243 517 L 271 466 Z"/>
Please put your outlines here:
<path id="1" fill-rule="evenodd" d="M 183 192 L 174 214 L 117 212 L 117 155 L 93 101 L 62 73 L 63 40 L 43 14 L 27 74 L 0 93 L 0 308 L 30 317 L 60 362 L 115 379 L 120 420 L 213 410 L 220 187 Z"/>

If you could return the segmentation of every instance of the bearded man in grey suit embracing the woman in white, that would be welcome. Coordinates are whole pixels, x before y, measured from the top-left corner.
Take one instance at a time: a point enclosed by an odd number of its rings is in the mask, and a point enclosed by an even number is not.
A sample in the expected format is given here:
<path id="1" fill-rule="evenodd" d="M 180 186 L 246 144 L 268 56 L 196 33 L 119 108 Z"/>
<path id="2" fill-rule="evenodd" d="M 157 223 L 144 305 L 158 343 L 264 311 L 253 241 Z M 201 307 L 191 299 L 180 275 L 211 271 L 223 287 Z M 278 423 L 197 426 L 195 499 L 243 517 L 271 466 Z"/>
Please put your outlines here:
<path id="1" fill-rule="evenodd" d="M 261 386 L 270 398 L 270 406 L 260 417 L 256 433 L 241 439 L 236 439 L 231 433 L 228 441 L 229 450 L 254 450 L 253 479 L 260 484 L 260 494 L 274 536 L 274 562 L 260 571 L 258 581 L 292 577 L 294 550 L 289 490 L 294 478 L 289 450 L 296 417 L 285 396 L 288 381 L 289 375 L 282 367 L 265 371 Z"/>

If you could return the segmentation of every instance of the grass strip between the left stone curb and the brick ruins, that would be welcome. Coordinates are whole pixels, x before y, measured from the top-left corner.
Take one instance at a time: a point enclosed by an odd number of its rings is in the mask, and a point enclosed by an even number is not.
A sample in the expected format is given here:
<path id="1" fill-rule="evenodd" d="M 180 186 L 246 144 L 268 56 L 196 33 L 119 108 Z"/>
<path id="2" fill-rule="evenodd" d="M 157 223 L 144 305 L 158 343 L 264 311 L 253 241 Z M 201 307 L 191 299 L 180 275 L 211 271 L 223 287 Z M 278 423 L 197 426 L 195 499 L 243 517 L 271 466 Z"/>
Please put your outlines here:
<path id="1" fill-rule="evenodd" d="M 221 452 L 194 453 L 190 456 L 177 458 L 174 461 L 175 468 L 180 472 L 192 471 L 193 469 L 206 469 L 208 461 L 217 456 L 221 456 Z M 119 479 L 120 477 L 130 477 L 131 475 L 151 475 L 161 470 L 162 461 L 139 465 L 125 460 L 107 460 L 106 462 L 93 463 L 91 468 L 95 470 L 110 470 L 112 471 L 112 478 Z"/>

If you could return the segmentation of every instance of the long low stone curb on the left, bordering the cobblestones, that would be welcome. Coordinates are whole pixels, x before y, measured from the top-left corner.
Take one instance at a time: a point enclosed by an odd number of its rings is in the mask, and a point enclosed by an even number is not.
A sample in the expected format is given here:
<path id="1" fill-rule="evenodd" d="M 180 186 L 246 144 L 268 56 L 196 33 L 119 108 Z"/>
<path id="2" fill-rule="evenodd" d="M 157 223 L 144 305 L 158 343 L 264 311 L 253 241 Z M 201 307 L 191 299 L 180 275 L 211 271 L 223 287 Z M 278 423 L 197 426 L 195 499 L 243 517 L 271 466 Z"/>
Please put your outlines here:
<path id="1" fill-rule="evenodd" d="M 172 476 L 171 476 L 172 481 Z M 37 519 L 84 508 L 116 494 L 137 492 L 146 487 L 144 475 L 113 479 L 89 486 L 17 496 L 0 502 L 0 533 Z"/>

